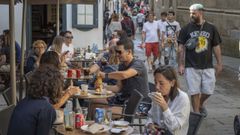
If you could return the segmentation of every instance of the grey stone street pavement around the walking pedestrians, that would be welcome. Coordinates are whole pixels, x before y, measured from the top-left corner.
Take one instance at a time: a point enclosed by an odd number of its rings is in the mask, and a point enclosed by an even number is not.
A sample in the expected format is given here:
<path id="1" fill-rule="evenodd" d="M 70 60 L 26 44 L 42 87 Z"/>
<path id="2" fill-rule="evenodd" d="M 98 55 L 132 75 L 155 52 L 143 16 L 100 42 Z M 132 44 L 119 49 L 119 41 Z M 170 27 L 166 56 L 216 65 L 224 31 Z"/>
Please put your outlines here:
<path id="1" fill-rule="evenodd" d="M 137 47 L 140 39 L 140 35 L 137 35 L 134 41 L 135 54 L 145 60 L 144 50 Z M 234 135 L 234 116 L 240 114 L 239 64 L 240 59 L 223 57 L 224 69 L 217 77 L 215 93 L 207 101 L 208 116 L 203 120 L 198 135 Z M 148 77 L 153 82 L 153 75 L 149 73 Z M 181 89 L 187 91 L 184 77 L 179 76 L 179 81 Z"/>

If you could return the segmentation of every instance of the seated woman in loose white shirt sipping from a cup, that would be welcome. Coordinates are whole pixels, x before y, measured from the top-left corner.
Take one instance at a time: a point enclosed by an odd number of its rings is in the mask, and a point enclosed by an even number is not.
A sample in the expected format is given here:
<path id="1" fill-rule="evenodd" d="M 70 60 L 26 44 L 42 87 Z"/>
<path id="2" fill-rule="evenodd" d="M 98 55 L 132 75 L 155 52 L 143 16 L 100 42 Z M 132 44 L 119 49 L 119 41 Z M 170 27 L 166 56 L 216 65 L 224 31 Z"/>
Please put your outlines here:
<path id="1" fill-rule="evenodd" d="M 175 70 L 162 66 L 154 71 L 156 91 L 150 93 L 152 108 L 146 124 L 147 134 L 170 132 L 173 135 L 186 135 L 190 114 L 188 95 L 179 89 Z"/>

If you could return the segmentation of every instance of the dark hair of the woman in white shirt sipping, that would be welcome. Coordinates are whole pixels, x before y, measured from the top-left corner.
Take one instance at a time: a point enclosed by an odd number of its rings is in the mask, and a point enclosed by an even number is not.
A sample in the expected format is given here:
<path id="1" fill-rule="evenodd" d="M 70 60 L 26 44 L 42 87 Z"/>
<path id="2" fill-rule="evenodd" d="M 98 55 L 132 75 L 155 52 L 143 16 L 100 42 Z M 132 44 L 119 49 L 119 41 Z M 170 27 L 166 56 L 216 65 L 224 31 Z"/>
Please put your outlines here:
<path id="1" fill-rule="evenodd" d="M 174 81 L 175 80 L 174 86 L 171 87 L 171 90 L 170 90 L 170 93 L 169 93 L 169 98 L 171 100 L 174 100 L 174 98 L 179 93 L 179 91 L 178 91 L 179 82 L 178 82 L 178 79 L 177 79 L 177 73 L 174 70 L 174 68 L 170 67 L 170 66 L 160 66 L 153 73 L 154 76 L 156 74 L 163 75 L 169 81 Z"/>

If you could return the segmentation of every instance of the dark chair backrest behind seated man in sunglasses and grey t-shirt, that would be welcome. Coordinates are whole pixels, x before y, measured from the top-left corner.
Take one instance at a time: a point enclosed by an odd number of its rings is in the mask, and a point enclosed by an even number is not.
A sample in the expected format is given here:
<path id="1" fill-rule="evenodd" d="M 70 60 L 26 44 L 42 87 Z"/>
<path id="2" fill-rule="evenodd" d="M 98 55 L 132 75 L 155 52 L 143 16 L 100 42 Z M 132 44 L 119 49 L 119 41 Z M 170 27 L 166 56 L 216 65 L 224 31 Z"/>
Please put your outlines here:
<path id="1" fill-rule="evenodd" d="M 125 121 L 128 121 L 129 123 L 133 122 L 134 115 L 142 99 L 143 95 L 140 92 L 138 92 L 137 90 L 132 91 L 129 100 L 126 103 L 126 108 L 124 110 L 124 114 L 129 115 L 124 117 Z"/>

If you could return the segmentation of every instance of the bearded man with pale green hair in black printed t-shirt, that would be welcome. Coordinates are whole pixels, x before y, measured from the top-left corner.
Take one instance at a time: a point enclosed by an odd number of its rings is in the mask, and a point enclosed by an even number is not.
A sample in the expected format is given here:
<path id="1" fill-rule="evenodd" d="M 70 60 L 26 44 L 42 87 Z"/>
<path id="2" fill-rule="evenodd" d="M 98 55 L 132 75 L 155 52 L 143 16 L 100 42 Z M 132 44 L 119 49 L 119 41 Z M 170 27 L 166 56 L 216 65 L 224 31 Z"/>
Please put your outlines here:
<path id="1" fill-rule="evenodd" d="M 221 37 L 216 27 L 204 19 L 202 4 L 193 4 L 189 9 L 191 22 L 181 29 L 178 38 L 178 71 L 185 74 L 194 112 L 206 116 L 205 101 L 214 92 L 215 75 L 222 70 Z"/>

